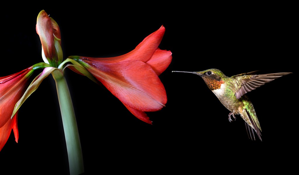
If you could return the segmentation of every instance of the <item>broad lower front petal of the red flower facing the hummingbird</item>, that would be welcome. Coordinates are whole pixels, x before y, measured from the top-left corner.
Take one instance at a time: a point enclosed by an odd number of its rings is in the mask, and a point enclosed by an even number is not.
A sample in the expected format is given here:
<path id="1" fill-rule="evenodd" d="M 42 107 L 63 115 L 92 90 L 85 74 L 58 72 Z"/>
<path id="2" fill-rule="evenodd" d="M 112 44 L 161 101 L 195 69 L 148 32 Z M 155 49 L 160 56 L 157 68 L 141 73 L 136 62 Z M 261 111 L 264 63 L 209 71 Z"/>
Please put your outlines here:
<path id="1" fill-rule="evenodd" d="M 157 111 L 164 107 L 167 96 L 163 84 L 142 61 L 101 64 L 84 60 L 87 69 L 121 102 L 139 111 Z"/>

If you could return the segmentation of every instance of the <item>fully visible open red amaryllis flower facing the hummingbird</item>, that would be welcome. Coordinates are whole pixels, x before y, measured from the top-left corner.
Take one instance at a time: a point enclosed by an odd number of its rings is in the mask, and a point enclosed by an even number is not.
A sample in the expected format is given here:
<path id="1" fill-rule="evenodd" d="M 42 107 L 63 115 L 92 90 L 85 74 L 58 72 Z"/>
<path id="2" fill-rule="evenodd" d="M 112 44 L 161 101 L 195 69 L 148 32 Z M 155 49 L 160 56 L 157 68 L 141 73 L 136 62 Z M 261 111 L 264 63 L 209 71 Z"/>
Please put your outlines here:
<path id="1" fill-rule="evenodd" d="M 165 28 L 161 26 L 134 50 L 117 57 L 71 56 L 68 58 L 83 65 L 132 114 L 152 124 L 145 112 L 161 110 L 167 102 L 164 86 L 158 77 L 172 60 L 170 51 L 158 48 L 164 32 Z"/>

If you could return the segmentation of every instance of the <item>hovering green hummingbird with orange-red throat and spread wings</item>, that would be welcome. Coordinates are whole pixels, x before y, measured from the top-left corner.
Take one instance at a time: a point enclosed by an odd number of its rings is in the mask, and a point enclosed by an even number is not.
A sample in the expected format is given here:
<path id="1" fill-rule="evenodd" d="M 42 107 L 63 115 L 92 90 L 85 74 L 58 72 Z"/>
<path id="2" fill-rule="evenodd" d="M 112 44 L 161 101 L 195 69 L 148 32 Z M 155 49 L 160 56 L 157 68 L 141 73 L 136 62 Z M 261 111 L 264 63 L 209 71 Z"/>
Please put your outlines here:
<path id="1" fill-rule="evenodd" d="M 236 120 L 235 115 L 240 115 L 245 121 L 246 131 L 251 140 L 255 140 L 254 131 L 259 139 L 261 138 L 261 127 L 254 107 L 245 95 L 265 83 L 269 83 L 274 79 L 280 78 L 283 75 L 288 75 L 292 72 L 271 73 L 257 75 L 257 71 L 242 73 L 231 77 L 225 76 L 218 69 L 207 69 L 201 72 L 184 72 L 199 75 L 207 84 L 208 88 L 216 95 L 223 106 L 230 111 L 228 121 Z M 232 119 L 233 117 L 233 119 Z"/>

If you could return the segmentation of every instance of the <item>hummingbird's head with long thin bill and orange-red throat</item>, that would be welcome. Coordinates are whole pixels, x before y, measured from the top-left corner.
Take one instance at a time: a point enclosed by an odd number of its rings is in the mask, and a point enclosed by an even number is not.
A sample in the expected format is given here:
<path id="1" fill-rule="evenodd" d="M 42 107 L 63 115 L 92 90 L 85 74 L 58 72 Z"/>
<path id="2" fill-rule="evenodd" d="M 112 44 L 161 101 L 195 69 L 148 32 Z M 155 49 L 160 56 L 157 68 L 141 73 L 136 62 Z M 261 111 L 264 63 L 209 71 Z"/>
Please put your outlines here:
<path id="1" fill-rule="evenodd" d="M 221 84 L 224 83 L 223 78 L 225 75 L 218 69 L 207 69 L 201 72 L 186 72 L 186 71 L 172 71 L 172 72 L 185 72 L 201 76 L 209 89 L 220 89 Z"/>

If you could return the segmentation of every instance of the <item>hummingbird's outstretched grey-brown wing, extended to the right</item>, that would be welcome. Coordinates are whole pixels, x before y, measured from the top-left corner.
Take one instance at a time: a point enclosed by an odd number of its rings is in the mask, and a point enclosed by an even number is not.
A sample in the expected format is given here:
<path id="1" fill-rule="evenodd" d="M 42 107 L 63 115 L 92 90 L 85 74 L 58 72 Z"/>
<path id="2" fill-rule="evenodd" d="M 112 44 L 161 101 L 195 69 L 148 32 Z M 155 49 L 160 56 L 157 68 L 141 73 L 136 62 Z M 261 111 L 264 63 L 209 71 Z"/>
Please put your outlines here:
<path id="1" fill-rule="evenodd" d="M 282 73 L 273 73 L 273 74 L 262 74 L 262 75 L 248 75 L 252 72 L 234 75 L 231 78 L 235 79 L 234 92 L 237 99 L 242 97 L 242 95 L 250 92 L 265 83 L 269 83 L 272 80 L 279 78 L 283 75 L 288 75 L 292 72 L 282 72 Z"/>

